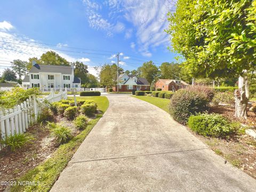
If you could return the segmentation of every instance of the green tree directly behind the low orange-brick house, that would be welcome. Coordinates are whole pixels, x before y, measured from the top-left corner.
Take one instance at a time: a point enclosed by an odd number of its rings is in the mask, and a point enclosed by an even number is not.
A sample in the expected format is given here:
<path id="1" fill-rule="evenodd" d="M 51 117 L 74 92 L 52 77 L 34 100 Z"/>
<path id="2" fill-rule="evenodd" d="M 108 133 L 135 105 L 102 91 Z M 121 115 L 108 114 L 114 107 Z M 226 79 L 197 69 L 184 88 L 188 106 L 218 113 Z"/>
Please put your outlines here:
<path id="1" fill-rule="evenodd" d="M 180 65 L 178 63 L 163 62 L 159 67 L 161 71 L 161 78 L 164 79 L 179 79 L 180 78 Z M 183 79 L 182 79 L 183 80 Z"/>

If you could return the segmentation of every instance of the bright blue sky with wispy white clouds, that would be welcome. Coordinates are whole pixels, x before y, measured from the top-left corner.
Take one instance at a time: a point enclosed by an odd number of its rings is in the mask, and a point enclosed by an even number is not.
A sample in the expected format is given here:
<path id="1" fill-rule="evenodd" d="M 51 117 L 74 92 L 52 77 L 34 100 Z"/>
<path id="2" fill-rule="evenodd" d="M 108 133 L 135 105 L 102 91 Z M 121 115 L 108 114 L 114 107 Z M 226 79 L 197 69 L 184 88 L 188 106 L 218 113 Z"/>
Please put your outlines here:
<path id="1" fill-rule="evenodd" d="M 13 59 L 27 60 L 53 50 L 68 61 L 90 66 L 116 62 L 136 69 L 153 60 L 175 61 L 167 50 L 166 13 L 174 1 L 55 0 L 1 1 L 0 71 Z M 82 49 L 77 49 L 82 48 Z"/>

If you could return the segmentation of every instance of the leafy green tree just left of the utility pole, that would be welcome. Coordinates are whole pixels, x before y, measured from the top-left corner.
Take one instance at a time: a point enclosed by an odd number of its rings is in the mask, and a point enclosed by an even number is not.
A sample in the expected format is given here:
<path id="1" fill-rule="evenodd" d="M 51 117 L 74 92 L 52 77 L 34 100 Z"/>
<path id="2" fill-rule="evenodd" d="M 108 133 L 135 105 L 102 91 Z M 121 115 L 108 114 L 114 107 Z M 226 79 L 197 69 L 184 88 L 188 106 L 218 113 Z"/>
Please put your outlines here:
<path id="1" fill-rule="evenodd" d="M 119 67 L 119 74 L 124 70 Z M 103 87 L 111 87 L 117 84 L 117 65 L 105 64 L 100 70 L 100 85 Z"/>

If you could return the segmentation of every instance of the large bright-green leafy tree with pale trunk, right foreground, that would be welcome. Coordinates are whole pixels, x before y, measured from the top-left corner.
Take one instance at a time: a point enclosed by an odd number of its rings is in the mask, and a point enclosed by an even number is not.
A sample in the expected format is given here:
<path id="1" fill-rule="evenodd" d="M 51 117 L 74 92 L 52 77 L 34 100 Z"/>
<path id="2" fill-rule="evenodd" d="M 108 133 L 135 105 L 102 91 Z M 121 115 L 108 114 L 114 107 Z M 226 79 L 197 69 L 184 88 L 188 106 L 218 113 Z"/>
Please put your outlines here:
<path id="1" fill-rule="evenodd" d="M 247 117 L 248 71 L 256 61 L 256 0 L 178 0 L 166 30 L 172 47 L 198 77 L 238 78 L 236 117 Z"/>

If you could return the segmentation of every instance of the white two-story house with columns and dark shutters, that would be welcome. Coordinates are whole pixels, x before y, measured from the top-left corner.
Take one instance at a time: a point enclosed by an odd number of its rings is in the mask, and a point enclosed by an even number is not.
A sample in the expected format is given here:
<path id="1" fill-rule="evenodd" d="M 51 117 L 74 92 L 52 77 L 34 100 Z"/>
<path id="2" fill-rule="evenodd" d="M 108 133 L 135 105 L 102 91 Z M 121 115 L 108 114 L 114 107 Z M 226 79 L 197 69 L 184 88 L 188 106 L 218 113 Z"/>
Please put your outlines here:
<path id="1" fill-rule="evenodd" d="M 67 87 L 81 88 L 81 79 L 74 76 L 71 66 L 34 64 L 22 81 L 23 87 L 39 87 L 41 90 L 58 90 Z"/>

